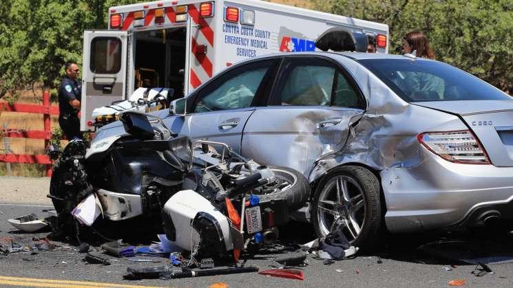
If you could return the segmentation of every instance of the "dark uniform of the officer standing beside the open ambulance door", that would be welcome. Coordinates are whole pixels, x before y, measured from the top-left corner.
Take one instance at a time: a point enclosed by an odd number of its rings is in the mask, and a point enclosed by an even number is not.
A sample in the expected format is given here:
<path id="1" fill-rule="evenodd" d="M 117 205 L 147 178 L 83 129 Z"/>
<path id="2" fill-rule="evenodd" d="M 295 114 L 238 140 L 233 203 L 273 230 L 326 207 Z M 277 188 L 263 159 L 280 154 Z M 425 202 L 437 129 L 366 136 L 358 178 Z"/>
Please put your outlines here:
<path id="1" fill-rule="evenodd" d="M 67 140 L 74 137 L 82 137 L 80 133 L 80 120 L 78 119 L 78 111 L 71 105 L 71 100 L 82 100 L 82 85 L 77 80 L 72 80 L 68 76 L 64 76 L 59 87 L 59 125 L 63 129 Z"/>

